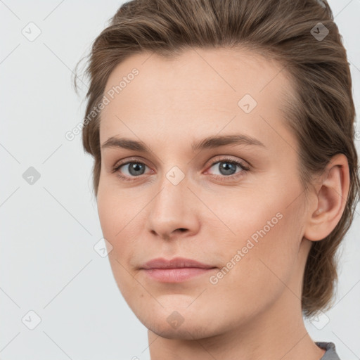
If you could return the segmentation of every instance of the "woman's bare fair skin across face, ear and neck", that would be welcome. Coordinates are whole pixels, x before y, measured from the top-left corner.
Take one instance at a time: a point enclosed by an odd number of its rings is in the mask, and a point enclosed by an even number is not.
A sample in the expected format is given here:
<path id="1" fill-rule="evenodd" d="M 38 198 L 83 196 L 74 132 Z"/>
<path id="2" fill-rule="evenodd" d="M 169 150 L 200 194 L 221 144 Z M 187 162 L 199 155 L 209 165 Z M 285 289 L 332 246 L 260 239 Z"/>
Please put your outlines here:
<path id="1" fill-rule="evenodd" d="M 102 111 L 100 139 L 142 141 L 149 153 L 102 148 L 97 201 L 115 280 L 148 328 L 151 359 L 321 359 L 324 351 L 302 319 L 302 276 L 311 242 L 325 238 L 344 210 L 347 159 L 335 156 L 305 201 L 297 141 L 280 110 L 281 91 L 293 88 L 269 59 L 234 49 L 192 49 L 172 60 L 144 52 L 117 65 L 105 91 L 133 68 L 139 75 Z M 238 105 L 245 94 L 257 101 L 250 113 Z M 191 149 L 193 141 L 229 134 L 252 136 L 264 147 Z M 228 157 L 250 170 L 221 172 Z M 130 159 L 146 165 L 143 174 L 128 165 L 111 172 Z M 184 174 L 177 185 L 167 178 L 174 166 Z M 277 224 L 212 284 L 210 275 L 279 213 Z M 217 269 L 181 283 L 161 283 L 139 269 L 178 256 Z M 177 328 L 167 321 L 171 314 L 183 320 Z"/>

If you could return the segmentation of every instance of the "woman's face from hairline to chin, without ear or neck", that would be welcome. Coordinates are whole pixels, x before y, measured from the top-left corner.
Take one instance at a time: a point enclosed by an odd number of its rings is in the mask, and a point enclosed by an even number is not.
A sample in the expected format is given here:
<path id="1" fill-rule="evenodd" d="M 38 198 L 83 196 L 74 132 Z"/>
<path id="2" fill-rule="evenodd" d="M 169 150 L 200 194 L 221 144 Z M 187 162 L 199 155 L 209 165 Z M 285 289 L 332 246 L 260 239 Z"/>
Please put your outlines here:
<path id="1" fill-rule="evenodd" d="M 98 214 L 124 299 L 162 337 L 221 335 L 300 302 L 309 248 L 281 69 L 196 49 L 132 56 L 108 79 Z M 207 269 L 146 269 L 176 257 Z"/>

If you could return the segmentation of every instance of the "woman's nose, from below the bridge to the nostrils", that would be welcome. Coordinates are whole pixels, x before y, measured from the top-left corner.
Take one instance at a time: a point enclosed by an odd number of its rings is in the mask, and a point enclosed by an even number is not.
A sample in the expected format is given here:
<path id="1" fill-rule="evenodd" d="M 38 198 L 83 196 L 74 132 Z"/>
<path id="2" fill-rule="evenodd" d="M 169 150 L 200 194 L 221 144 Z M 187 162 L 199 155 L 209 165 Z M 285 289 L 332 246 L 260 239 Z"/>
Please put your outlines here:
<path id="1" fill-rule="evenodd" d="M 186 179 L 174 185 L 165 178 L 161 185 L 149 204 L 149 231 L 164 240 L 197 233 L 199 204 Z"/>

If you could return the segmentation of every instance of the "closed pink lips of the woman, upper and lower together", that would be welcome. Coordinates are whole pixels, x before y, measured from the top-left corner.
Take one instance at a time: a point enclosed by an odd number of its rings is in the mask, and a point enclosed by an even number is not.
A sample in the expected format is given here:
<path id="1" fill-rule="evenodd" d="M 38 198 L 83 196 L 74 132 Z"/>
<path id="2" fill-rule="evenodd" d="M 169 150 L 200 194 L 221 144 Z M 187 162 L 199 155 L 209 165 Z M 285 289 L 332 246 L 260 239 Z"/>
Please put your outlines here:
<path id="1" fill-rule="evenodd" d="M 207 274 L 217 268 L 193 259 L 175 257 L 170 260 L 164 258 L 152 259 L 141 266 L 140 269 L 154 280 L 163 283 L 181 283 L 194 276 Z"/>

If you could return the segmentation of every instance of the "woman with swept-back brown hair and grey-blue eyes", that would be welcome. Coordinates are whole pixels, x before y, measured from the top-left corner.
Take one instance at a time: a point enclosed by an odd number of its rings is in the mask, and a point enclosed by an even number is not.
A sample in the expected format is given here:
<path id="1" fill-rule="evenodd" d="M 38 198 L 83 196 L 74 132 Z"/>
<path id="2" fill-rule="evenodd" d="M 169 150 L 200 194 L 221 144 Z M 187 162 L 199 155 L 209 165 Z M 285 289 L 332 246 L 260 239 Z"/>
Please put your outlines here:
<path id="1" fill-rule="evenodd" d="M 359 196 L 327 2 L 129 1 L 87 74 L 101 228 L 151 359 L 338 359 L 303 320 Z"/>

